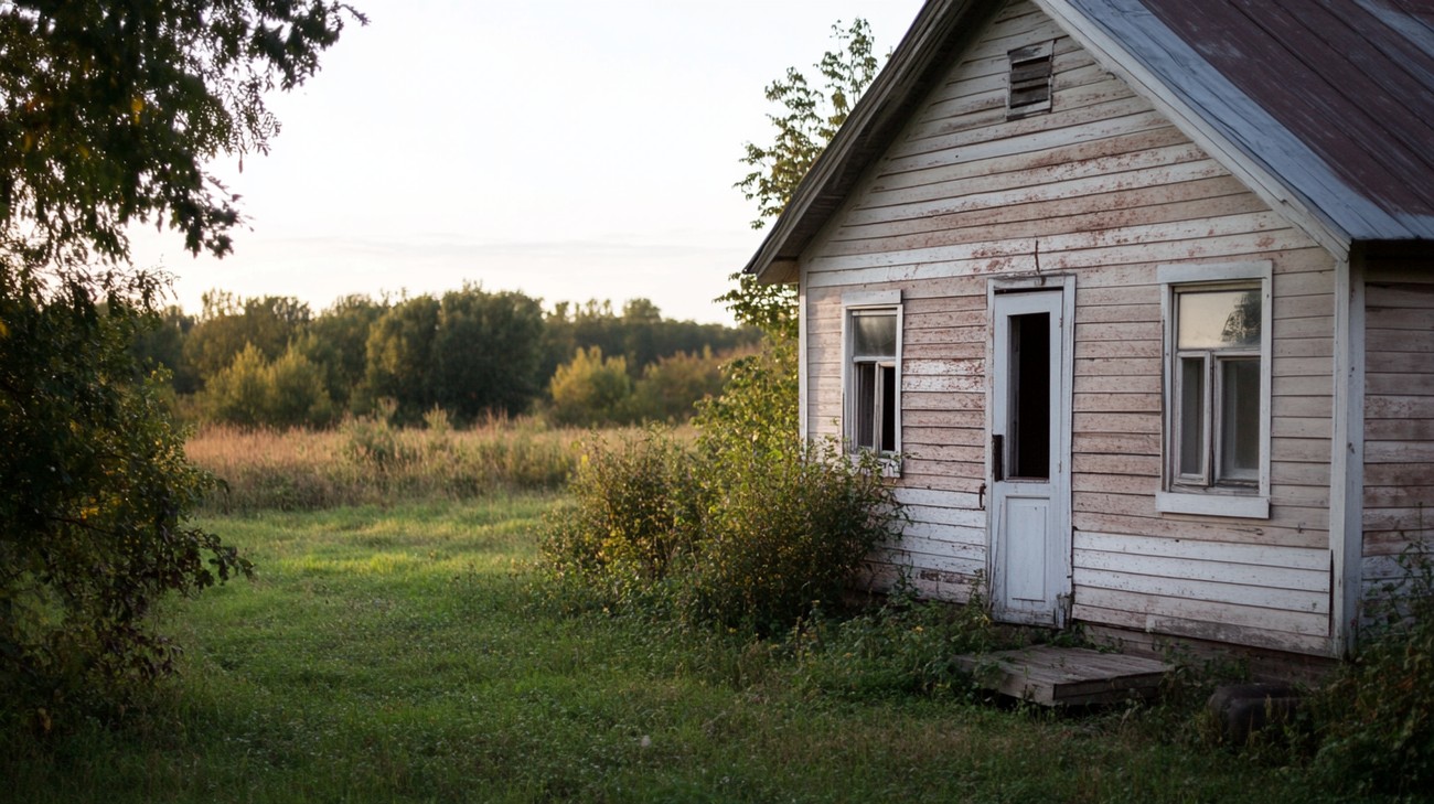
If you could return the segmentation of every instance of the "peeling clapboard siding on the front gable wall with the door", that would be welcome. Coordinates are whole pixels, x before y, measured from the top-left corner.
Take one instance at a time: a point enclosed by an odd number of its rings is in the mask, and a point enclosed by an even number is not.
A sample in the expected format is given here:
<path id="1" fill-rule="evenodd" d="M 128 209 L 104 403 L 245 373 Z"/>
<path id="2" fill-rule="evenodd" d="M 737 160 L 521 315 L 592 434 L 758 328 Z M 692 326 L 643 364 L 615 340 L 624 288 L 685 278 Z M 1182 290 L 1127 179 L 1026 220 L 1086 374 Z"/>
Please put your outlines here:
<path id="1" fill-rule="evenodd" d="M 1051 40 L 1053 110 L 1007 120 L 1007 50 Z M 1271 517 L 1163 515 L 1159 267 L 1249 259 L 1275 272 Z M 842 294 L 902 291 L 912 522 L 868 580 L 965 599 L 987 570 L 987 281 L 1038 271 L 1076 275 L 1073 615 L 1328 651 L 1334 259 L 1025 1 L 802 258 L 812 434 L 840 431 Z"/>

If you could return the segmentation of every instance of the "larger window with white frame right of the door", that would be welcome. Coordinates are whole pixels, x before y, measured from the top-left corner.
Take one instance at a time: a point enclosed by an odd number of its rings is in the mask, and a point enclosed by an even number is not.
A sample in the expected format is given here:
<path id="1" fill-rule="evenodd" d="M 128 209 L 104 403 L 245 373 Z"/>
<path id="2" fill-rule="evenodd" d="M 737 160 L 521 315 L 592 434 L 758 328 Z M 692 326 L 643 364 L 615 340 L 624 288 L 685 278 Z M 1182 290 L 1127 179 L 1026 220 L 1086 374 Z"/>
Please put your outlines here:
<path id="1" fill-rule="evenodd" d="M 1157 507 L 1269 516 L 1269 264 L 1166 265 Z"/>

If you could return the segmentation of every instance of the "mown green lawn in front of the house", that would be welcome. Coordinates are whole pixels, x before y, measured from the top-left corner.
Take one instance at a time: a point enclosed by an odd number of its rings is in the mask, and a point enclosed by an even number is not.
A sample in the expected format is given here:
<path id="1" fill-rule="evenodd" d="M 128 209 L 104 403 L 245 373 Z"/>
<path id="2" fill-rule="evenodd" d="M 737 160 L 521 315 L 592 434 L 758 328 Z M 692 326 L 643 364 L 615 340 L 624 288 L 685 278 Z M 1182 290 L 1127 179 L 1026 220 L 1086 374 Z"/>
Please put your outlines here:
<path id="1" fill-rule="evenodd" d="M 175 600 L 184 676 L 11 740 L 14 801 L 1308 801 L 1190 712 L 823 691 L 766 643 L 562 615 L 552 497 L 215 519 L 254 582 Z"/>

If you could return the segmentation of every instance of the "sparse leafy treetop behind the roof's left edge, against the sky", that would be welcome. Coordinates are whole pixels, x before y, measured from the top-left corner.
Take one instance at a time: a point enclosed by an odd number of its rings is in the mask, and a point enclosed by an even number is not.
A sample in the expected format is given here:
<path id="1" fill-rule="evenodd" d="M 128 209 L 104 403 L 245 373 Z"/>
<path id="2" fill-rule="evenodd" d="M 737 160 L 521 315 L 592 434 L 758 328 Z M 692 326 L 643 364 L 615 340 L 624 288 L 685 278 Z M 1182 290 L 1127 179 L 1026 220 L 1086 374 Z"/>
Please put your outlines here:
<path id="1" fill-rule="evenodd" d="M 776 129 L 771 145 L 744 145 L 741 162 L 751 171 L 734 185 L 747 201 L 757 202 L 754 229 L 786 209 L 797 185 L 876 77 L 875 42 L 866 20 L 852 20 L 847 29 L 837 21 L 832 26 L 832 37 L 840 47 L 826 52 L 816 63 L 825 79 L 822 87 L 813 87 L 796 67 L 787 67 L 784 77 L 767 85 L 767 100 L 780 103 L 783 113 L 767 116 Z M 733 281 L 737 287 L 717 301 L 739 321 L 779 337 L 796 335 L 796 288 L 763 285 L 747 274 L 733 274 Z"/>

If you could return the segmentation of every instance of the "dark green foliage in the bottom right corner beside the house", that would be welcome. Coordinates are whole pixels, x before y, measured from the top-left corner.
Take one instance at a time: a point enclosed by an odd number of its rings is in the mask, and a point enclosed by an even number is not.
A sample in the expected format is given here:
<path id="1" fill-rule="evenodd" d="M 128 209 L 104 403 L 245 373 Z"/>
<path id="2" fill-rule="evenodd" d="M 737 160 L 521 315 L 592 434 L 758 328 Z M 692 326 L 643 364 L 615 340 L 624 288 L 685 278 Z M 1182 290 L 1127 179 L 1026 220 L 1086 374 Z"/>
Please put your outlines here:
<path id="1" fill-rule="evenodd" d="M 1434 790 L 1434 565 L 1423 546 L 1400 563 L 1408 580 L 1371 600 L 1371 633 L 1311 704 L 1314 771 L 1329 790 Z"/>

